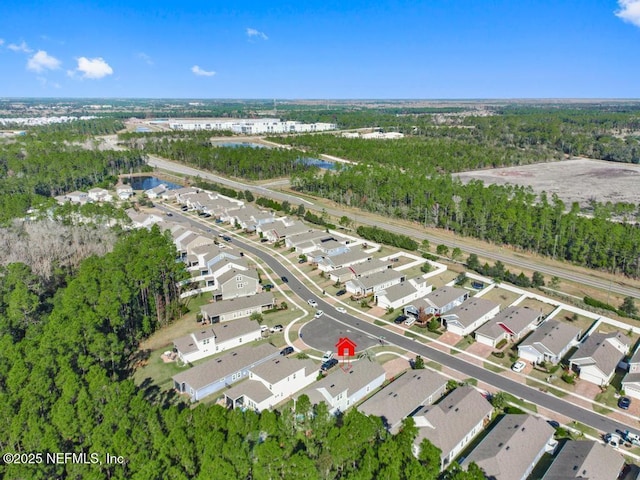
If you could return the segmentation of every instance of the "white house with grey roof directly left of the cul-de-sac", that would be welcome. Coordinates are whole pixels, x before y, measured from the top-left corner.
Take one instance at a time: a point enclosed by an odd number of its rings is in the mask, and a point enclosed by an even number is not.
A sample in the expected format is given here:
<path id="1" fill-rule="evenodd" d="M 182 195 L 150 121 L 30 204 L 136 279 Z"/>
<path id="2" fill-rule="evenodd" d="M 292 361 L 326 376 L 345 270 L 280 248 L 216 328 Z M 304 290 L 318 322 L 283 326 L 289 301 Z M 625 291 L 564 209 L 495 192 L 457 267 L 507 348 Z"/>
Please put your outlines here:
<path id="1" fill-rule="evenodd" d="M 183 362 L 193 362 L 262 338 L 260 324 L 241 318 L 235 322 L 207 325 L 176 338 L 173 346 Z"/>

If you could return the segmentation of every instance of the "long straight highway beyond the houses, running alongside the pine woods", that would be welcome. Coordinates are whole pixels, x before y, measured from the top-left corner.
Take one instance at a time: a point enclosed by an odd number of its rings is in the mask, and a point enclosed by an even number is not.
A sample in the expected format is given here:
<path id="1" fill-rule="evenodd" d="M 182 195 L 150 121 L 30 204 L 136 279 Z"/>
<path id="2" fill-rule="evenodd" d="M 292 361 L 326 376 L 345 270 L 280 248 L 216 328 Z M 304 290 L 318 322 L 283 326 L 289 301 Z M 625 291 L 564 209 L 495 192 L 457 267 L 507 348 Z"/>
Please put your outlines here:
<path id="1" fill-rule="evenodd" d="M 183 175 L 189 175 L 192 177 L 200 177 L 202 179 L 211 180 L 216 183 L 227 185 L 231 188 L 235 188 L 239 190 L 250 190 L 255 194 L 267 196 L 275 200 L 278 200 L 280 202 L 286 200 L 292 205 L 298 205 L 300 203 L 304 203 L 305 208 L 307 209 L 317 210 L 317 211 L 322 210 L 321 208 L 314 207 L 312 202 L 296 197 L 295 195 L 289 195 L 287 193 L 270 190 L 262 186 L 250 185 L 246 183 L 237 182 L 235 180 L 229 180 L 225 177 L 221 177 L 219 175 L 215 175 L 210 172 L 197 170 L 195 168 L 181 165 L 180 163 L 172 162 L 172 161 L 162 159 L 153 155 L 149 156 L 148 163 L 153 167 L 161 168 L 163 170 L 168 170 L 168 171 L 180 173 Z M 340 218 L 345 213 L 343 210 L 336 209 L 336 208 L 325 207 L 324 209 L 329 215 L 332 215 L 336 218 Z M 380 225 L 379 221 L 368 218 L 367 216 L 364 216 L 364 215 L 358 218 L 358 222 L 362 224 L 370 225 L 370 226 Z M 429 242 L 432 244 L 445 244 L 445 245 L 448 245 L 449 247 L 461 246 L 459 243 L 454 245 L 450 239 L 435 236 L 435 235 L 430 235 L 419 230 L 403 227 L 401 225 L 394 225 L 386 222 L 384 225 L 384 228 L 394 233 L 399 233 L 402 235 L 407 235 L 409 237 L 417 238 L 420 241 L 429 240 Z M 637 289 L 628 285 L 621 285 L 615 281 L 610 282 L 609 280 L 599 279 L 591 275 L 571 272 L 563 268 L 544 265 L 536 262 L 535 260 L 520 258 L 519 256 L 511 253 L 490 252 L 482 249 L 481 247 L 474 247 L 472 245 L 469 245 L 468 243 L 466 243 L 462 248 L 468 253 L 475 253 L 476 255 L 480 255 L 485 258 L 500 260 L 502 263 L 505 263 L 508 265 L 513 265 L 515 267 L 520 267 L 527 270 L 538 271 L 547 276 L 551 276 L 551 277 L 556 276 L 560 279 L 577 282 L 583 285 L 598 288 L 603 291 L 611 291 L 612 293 L 617 293 L 619 295 L 630 296 L 630 297 L 640 299 L 640 289 Z"/>

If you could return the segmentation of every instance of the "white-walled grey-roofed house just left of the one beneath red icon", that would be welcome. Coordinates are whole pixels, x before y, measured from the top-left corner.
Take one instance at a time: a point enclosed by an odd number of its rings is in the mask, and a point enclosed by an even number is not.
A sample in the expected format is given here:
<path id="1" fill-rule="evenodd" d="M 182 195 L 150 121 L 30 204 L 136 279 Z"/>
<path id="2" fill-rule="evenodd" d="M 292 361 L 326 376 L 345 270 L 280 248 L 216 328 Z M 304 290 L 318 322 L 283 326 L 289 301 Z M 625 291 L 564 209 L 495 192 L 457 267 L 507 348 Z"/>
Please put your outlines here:
<path id="1" fill-rule="evenodd" d="M 249 378 L 224 393 L 230 408 L 262 411 L 308 387 L 318 375 L 312 360 L 278 356 L 249 371 Z"/>

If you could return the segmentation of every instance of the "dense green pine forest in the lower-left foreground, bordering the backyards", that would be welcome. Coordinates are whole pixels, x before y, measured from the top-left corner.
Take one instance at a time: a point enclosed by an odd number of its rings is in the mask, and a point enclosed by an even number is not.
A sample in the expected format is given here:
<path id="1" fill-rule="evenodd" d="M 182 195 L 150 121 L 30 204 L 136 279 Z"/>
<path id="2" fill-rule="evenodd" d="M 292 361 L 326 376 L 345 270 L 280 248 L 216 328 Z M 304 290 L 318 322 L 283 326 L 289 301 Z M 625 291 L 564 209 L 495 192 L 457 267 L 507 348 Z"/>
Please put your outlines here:
<path id="1" fill-rule="evenodd" d="M 171 239 L 157 228 L 124 235 L 56 283 L 25 264 L 0 267 L 0 463 L 3 478 L 424 479 L 439 451 L 406 421 L 390 435 L 377 417 L 329 415 L 301 399 L 295 411 L 190 408 L 131 380 L 140 339 L 180 314 L 183 278 Z M 36 453 L 86 453 L 87 463 Z M 122 464 L 105 455 L 122 456 Z M 29 454 L 34 454 L 30 456 Z M 97 456 L 91 456 L 96 454 Z M 454 468 L 448 480 L 481 480 Z"/>

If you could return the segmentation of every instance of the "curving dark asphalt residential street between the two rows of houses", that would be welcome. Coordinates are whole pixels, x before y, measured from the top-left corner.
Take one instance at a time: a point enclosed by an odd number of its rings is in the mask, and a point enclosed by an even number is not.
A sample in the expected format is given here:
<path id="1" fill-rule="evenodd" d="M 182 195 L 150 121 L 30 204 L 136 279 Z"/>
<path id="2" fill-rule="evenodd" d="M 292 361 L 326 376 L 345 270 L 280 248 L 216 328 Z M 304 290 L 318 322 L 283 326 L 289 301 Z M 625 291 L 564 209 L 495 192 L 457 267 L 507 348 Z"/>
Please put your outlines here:
<path id="1" fill-rule="evenodd" d="M 158 205 L 158 208 L 167 211 L 166 207 Z M 174 216 L 179 216 L 187 219 L 191 225 L 199 229 L 207 229 L 203 227 L 200 222 L 193 218 L 189 218 L 186 215 L 182 215 L 179 212 L 174 212 Z M 207 224 L 209 227 L 209 224 Z M 210 226 L 215 229 L 215 225 Z M 485 370 L 471 363 L 468 363 L 456 356 L 449 355 L 447 353 L 436 350 L 428 345 L 422 344 L 409 337 L 399 335 L 393 331 L 386 330 L 382 327 L 376 326 L 372 323 L 363 321 L 357 317 L 349 314 L 342 314 L 335 311 L 335 307 L 327 303 L 322 295 L 318 295 L 318 292 L 312 291 L 306 285 L 304 285 L 298 278 L 296 278 L 290 270 L 281 264 L 275 256 L 269 252 L 258 248 L 257 246 L 242 241 L 238 237 L 233 237 L 232 245 L 241 248 L 243 251 L 251 253 L 252 255 L 262 259 L 274 272 L 276 276 L 286 276 L 288 279 L 287 285 L 291 291 L 296 294 L 302 303 L 305 303 L 308 299 L 314 299 L 318 302 L 318 308 L 325 312 L 331 312 L 330 316 L 349 326 L 354 330 L 360 330 L 361 332 L 368 334 L 373 338 L 385 337 L 385 341 L 388 344 L 395 345 L 404 350 L 414 352 L 422 357 L 438 362 L 449 368 L 452 368 L 463 375 L 471 378 L 476 378 L 479 381 L 485 382 L 489 385 L 493 385 L 499 390 L 511 393 L 512 395 L 521 398 L 527 402 L 539 405 L 551 411 L 555 411 L 561 415 L 577 420 L 580 423 L 595 428 L 601 432 L 615 432 L 616 430 L 624 431 L 630 430 L 634 433 L 640 434 L 640 430 L 637 430 L 632 425 L 626 425 L 611 418 L 600 415 L 591 410 L 587 410 L 580 406 L 574 405 L 568 401 L 555 397 L 552 394 L 541 392 L 528 385 L 518 383 L 500 374 Z M 327 313 L 325 313 L 327 315 Z"/>

